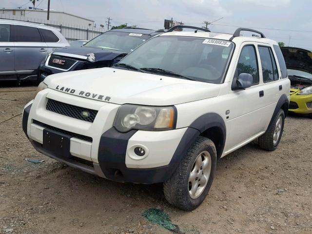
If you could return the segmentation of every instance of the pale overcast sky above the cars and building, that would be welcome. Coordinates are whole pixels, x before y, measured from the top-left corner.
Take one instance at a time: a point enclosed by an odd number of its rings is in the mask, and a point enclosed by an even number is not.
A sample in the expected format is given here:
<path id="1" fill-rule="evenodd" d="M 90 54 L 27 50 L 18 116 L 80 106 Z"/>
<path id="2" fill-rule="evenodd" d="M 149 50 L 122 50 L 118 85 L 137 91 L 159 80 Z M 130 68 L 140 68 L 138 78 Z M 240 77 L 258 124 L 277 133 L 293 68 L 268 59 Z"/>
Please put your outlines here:
<path id="1" fill-rule="evenodd" d="M 0 8 L 15 8 L 28 1 L 0 0 Z M 39 0 L 36 5 L 46 9 L 47 2 Z M 28 6 L 32 6 L 30 1 L 23 8 Z M 210 25 L 211 31 L 233 33 L 238 26 L 250 27 L 267 38 L 286 45 L 290 40 L 290 46 L 312 50 L 311 0 L 51 0 L 51 9 L 98 24 L 111 17 L 112 25 L 128 23 L 152 29 L 163 28 L 164 19 L 202 26 L 204 20 L 224 17 Z"/>

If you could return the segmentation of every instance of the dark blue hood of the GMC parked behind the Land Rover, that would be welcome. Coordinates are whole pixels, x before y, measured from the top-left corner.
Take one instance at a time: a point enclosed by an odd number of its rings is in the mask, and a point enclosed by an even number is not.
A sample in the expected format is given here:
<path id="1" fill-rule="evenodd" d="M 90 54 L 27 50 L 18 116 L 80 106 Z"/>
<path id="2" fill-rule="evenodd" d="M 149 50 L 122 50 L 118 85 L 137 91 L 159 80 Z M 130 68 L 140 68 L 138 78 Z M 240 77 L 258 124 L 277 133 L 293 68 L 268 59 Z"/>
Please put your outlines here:
<path id="1" fill-rule="evenodd" d="M 73 58 L 75 58 L 75 55 L 85 56 L 86 58 L 88 58 L 90 57 L 90 54 L 91 54 L 92 62 L 103 61 L 103 60 L 113 60 L 119 55 L 127 54 L 122 51 L 97 48 L 97 47 L 89 47 L 89 46 L 78 46 L 78 47 L 67 46 L 67 47 L 60 48 L 57 51 L 53 52 L 53 54 L 56 54 L 56 55 L 58 53 L 71 54 L 71 56 L 69 57 L 73 57 Z"/>

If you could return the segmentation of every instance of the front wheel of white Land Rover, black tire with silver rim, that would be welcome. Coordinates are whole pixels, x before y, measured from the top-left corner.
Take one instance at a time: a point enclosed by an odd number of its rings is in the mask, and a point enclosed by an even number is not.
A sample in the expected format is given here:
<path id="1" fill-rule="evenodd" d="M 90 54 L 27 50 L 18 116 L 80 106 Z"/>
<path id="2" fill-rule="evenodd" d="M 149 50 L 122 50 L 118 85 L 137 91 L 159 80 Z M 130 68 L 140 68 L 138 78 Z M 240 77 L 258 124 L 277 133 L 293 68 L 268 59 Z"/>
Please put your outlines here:
<path id="1" fill-rule="evenodd" d="M 198 207 L 207 196 L 214 180 L 216 158 L 214 142 L 206 137 L 197 137 L 176 168 L 173 176 L 164 183 L 164 194 L 167 201 L 185 211 L 191 211 Z M 199 167 L 198 165 L 202 166 Z M 191 172 L 194 183 L 189 181 Z M 199 185 L 196 189 L 196 181 L 197 184 L 202 181 L 206 185 Z M 194 190 L 189 192 L 192 188 Z M 195 189 L 196 193 L 194 193 Z"/>

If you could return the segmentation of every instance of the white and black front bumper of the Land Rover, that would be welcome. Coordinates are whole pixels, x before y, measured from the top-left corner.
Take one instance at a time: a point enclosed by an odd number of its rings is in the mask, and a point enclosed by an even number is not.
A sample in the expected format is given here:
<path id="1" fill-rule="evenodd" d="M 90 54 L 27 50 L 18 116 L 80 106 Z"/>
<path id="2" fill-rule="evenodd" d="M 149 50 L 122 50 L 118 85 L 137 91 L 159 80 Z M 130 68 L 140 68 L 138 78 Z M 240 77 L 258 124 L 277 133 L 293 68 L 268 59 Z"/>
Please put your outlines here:
<path id="1" fill-rule="evenodd" d="M 47 98 L 98 110 L 93 123 L 47 111 Z M 77 100 L 76 100 L 77 99 Z M 84 103 L 85 102 L 85 103 Z M 193 128 L 150 132 L 119 133 L 114 119 L 119 105 L 90 101 L 53 90 L 43 90 L 23 112 L 23 130 L 40 153 L 82 171 L 120 182 L 158 183 L 170 178 L 191 142 L 199 135 Z M 52 127 L 53 126 L 53 127 Z M 71 135 L 70 155 L 63 157 L 43 148 L 43 129 L 55 128 Z M 92 138 L 92 142 L 77 136 Z M 133 158 L 136 145 L 149 154 Z"/>

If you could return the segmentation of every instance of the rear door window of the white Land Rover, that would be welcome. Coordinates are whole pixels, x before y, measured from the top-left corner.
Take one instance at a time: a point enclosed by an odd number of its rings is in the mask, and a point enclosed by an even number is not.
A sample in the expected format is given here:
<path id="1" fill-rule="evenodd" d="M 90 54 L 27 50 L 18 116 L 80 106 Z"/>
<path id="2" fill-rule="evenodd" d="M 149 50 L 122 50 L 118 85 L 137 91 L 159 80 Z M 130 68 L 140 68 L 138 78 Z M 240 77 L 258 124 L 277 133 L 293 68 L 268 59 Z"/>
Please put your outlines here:
<path id="1" fill-rule="evenodd" d="M 273 52 L 270 47 L 258 46 L 261 65 L 263 82 L 270 82 L 278 79 L 278 72 Z"/>

